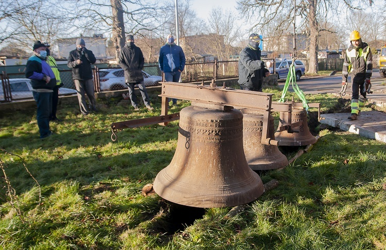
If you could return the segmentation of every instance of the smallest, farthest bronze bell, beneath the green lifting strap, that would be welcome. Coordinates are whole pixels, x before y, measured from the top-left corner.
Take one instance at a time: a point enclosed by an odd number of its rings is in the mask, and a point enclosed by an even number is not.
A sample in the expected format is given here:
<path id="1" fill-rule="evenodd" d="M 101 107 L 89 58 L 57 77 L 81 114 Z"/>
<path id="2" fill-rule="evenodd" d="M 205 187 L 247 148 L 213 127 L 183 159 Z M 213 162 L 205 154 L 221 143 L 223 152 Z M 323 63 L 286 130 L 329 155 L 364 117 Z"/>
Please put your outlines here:
<path id="1" fill-rule="evenodd" d="M 288 120 L 288 114 L 286 112 L 280 112 L 280 126 L 284 126 L 285 121 Z M 284 130 L 282 132 L 275 133 L 275 139 L 279 142 L 280 146 L 306 146 L 317 142 L 315 136 L 313 136 L 307 124 L 307 112 L 305 109 L 292 109 L 291 123 L 301 122 L 299 127 L 292 128 L 293 131 L 288 132 Z"/>

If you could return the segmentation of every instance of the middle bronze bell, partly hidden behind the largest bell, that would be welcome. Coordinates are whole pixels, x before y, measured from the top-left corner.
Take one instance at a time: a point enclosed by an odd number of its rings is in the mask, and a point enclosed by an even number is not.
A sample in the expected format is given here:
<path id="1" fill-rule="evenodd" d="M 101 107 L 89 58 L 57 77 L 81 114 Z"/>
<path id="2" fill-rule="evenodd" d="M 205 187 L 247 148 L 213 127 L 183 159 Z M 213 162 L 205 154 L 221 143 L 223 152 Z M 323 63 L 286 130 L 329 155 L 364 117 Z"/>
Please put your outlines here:
<path id="1" fill-rule="evenodd" d="M 251 110 L 243 110 L 243 145 L 248 165 L 253 170 L 270 170 L 288 165 L 287 157 L 276 145 L 261 144 L 264 116 Z M 269 137 L 274 136 L 274 118 L 269 117 Z"/>

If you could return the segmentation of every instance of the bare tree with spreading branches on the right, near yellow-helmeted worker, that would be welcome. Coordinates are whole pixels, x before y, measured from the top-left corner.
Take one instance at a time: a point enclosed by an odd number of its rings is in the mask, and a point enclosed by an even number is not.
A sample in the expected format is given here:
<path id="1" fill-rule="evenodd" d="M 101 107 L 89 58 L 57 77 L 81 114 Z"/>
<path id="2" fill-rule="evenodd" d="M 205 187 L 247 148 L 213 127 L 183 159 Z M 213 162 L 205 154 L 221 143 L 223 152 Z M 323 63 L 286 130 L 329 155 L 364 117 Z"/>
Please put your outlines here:
<path id="1" fill-rule="evenodd" d="M 277 16 L 284 15 L 291 19 L 294 9 L 298 16 L 302 17 L 303 25 L 309 34 L 309 73 L 318 72 L 318 50 L 319 50 L 319 34 L 321 31 L 320 22 L 331 15 L 332 11 L 340 16 L 339 11 L 344 8 L 347 10 L 359 10 L 373 4 L 373 1 L 368 0 L 306 0 L 300 1 L 294 6 L 292 0 L 282 1 L 255 1 L 255 0 L 240 0 L 238 9 L 245 13 L 250 21 L 254 21 L 255 27 L 264 27 Z M 338 8 L 341 7 L 341 8 Z"/>

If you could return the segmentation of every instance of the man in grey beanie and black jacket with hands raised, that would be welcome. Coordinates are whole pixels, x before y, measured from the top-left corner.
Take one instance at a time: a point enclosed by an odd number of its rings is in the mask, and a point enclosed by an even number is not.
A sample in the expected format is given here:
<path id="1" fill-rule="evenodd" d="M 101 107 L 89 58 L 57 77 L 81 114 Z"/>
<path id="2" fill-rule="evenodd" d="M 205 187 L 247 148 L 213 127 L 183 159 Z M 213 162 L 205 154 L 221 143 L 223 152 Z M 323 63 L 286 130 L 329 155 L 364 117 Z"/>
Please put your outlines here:
<path id="1" fill-rule="evenodd" d="M 84 94 L 89 98 L 89 108 L 97 112 L 95 105 L 93 70 L 91 64 L 96 62 L 93 51 L 86 49 L 85 42 L 82 38 L 76 40 L 76 49 L 69 52 L 67 66 L 73 69 L 73 80 L 76 91 L 78 92 L 78 102 L 80 112 L 83 116 L 89 114 L 86 108 L 86 99 Z"/>

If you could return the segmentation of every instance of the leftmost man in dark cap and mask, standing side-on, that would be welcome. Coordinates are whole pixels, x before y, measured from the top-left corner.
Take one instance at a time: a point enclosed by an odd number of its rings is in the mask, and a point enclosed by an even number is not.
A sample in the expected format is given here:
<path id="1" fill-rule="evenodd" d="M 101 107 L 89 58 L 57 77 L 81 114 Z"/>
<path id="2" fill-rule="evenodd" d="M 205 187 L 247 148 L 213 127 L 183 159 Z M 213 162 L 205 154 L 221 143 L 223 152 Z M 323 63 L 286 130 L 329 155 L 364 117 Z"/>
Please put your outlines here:
<path id="1" fill-rule="evenodd" d="M 25 77 L 31 79 L 33 99 L 38 106 L 37 120 L 41 139 L 51 135 L 49 116 L 52 109 L 52 88 L 56 85 L 54 72 L 45 61 L 46 57 L 45 45 L 36 41 L 33 44 L 33 56 L 28 59 L 25 70 Z"/>

